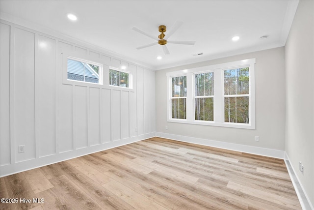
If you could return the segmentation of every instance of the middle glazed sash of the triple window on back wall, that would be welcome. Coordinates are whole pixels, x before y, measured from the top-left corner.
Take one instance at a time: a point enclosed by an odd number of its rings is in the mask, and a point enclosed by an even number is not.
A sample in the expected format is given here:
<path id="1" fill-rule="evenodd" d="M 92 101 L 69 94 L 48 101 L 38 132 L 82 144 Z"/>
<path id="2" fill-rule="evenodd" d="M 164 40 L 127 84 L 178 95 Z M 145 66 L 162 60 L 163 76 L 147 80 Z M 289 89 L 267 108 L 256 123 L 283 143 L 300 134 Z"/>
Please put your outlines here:
<path id="1" fill-rule="evenodd" d="M 214 120 L 214 72 L 195 74 L 195 120 Z"/>

